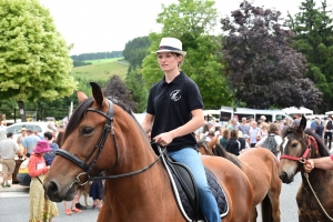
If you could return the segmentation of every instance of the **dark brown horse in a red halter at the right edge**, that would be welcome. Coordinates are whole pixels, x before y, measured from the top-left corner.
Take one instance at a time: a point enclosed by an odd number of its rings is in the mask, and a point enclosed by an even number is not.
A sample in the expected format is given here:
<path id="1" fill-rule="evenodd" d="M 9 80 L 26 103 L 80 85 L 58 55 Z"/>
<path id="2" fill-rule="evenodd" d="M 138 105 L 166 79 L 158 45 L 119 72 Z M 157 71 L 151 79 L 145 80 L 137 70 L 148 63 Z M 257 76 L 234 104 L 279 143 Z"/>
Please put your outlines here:
<path id="1" fill-rule="evenodd" d="M 303 169 L 305 159 L 329 157 L 330 153 L 322 139 L 311 130 L 304 130 L 305 127 L 306 119 L 302 117 L 300 125 L 283 130 L 280 178 L 283 183 L 291 183 L 297 172 L 302 173 L 296 194 L 299 221 L 333 221 L 333 170 L 313 169 L 307 174 Z"/>

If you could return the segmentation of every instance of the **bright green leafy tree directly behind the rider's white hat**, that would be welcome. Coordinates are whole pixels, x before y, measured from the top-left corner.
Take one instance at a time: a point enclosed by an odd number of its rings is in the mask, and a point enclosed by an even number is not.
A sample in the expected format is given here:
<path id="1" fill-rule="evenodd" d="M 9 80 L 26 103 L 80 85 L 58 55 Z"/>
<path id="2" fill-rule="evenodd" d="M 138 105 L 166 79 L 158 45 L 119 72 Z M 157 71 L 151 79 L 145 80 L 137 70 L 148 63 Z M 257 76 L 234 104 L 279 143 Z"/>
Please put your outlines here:
<path id="1" fill-rule="evenodd" d="M 205 109 L 218 109 L 231 102 L 220 52 L 222 37 L 209 34 L 216 20 L 214 1 L 179 0 L 169 7 L 162 4 L 162 12 L 157 19 L 162 24 L 162 32 L 149 34 L 149 52 L 159 48 L 163 37 L 174 37 L 182 41 L 183 49 L 188 51 L 182 70 L 196 82 Z M 155 54 L 150 53 L 144 58 L 142 74 L 148 89 L 161 80 L 163 72 Z"/>

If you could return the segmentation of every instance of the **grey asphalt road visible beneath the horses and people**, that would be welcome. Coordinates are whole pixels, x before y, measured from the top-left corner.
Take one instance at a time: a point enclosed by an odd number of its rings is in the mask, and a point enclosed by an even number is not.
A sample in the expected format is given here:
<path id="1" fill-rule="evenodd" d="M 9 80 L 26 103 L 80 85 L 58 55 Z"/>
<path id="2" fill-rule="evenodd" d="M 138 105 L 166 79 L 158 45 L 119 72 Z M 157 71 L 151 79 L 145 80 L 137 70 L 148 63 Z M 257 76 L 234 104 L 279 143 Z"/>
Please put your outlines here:
<path id="1" fill-rule="evenodd" d="M 291 184 L 283 184 L 280 196 L 280 210 L 282 222 L 297 221 L 296 192 L 301 183 L 300 173 L 295 176 L 295 181 Z M 28 192 L 2 192 L 0 195 L 0 221 L 2 222 L 27 222 L 29 221 L 29 196 Z M 81 198 L 83 203 L 83 198 Z M 92 200 L 89 200 L 92 204 Z M 70 202 L 69 202 L 70 204 Z M 259 209 L 259 208 L 258 208 Z M 82 213 L 73 213 L 72 215 L 64 214 L 63 203 L 58 203 L 59 216 L 54 222 L 92 222 L 97 221 L 99 211 L 92 210 L 91 206 Z M 260 211 L 260 209 L 259 209 Z M 258 220 L 262 222 L 261 219 Z"/>

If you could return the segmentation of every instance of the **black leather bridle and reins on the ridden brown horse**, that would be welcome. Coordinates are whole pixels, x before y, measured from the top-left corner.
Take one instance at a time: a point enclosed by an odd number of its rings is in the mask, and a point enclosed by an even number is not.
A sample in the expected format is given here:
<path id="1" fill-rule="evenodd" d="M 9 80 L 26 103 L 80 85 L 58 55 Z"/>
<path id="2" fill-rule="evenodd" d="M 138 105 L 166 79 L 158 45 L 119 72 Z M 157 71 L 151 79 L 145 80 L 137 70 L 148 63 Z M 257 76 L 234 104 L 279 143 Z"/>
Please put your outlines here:
<path id="1" fill-rule="evenodd" d="M 63 149 L 58 149 L 56 154 L 57 155 L 61 155 L 65 159 L 68 159 L 69 161 L 75 163 L 78 167 L 80 167 L 82 170 L 84 170 L 84 172 L 82 173 L 79 173 L 75 178 L 75 181 L 72 183 L 78 183 L 79 185 L 84 185 L 87 184 L 89 181 L 94 181 L 94 180 L 104 180 L 104 179 L 117 179 L 117 178 L 124 178 L 124 176 L 129 176 L 129 175 L 134 175 L 134 174 L 138 174 L 138 173 L 141 173 L 145 170 L 148 170 L 149 168 L 151 168 L 154 163 L 158 162 L 158 160 L 161 158 L 162 153 L 159 155 L 159 158 L 150 163 L 149 165 L 140 169 L 140 170 L 137 170 L 137 171 L 133 171 L 133 172 L 129 172 L 129 173 L 123 173 L 123 174 L 119 174 L 119 175 L 101 175 L 101 176 L 91 176 L 91 171 L 93 169 L 93 167 L 95 165 L 95 162 L 97 160 L 99 159 L 103 148 L 104 148 L 104 144 L 105 144 L 105 141 L 108 139 L 108 135 L 109 135 L 109 132 L 111 132 L 112 134 L 112 139 L 113 139 L 113 144 L 114 144 L 114 150 L 115 150 L 115 163 L 114 165 L 118 165 L 119 163 L 119 160 L 118 160 L 118 145 L 117 145 L 117 141 L 115 141 L 115 133 L 114 133 L 114 130 L 113 130 L 113 103 L 108 100 L 108 103 L 109 103 L 109 111 L 108 111 L 108 114 L 101 112 L 100 110 L 97 110 L 97 109 L 93 109 L 93 108 L 88 108 L 87 111 L 92 111 L 92 112 L 97 112 L 101 115 L 103 115 L 105 119 L 107 119 L 107 122 L 104 124 L 104 128 L 103 128 L 103 131 L 102 133 L 100 134 L 97 143 L 94 144 L 93 147 L 93 150 L 90 152 L 90 154 L 88 155 L 88 158 L 82 161 L 81 159 L 79 159 L 78 157 L 75 157 L 74 154 L 63 150 Z M 95 155 L 92 158 L 93 153 L 95 153 Z M 90 164 L 88 164 L 88 161 L 92 158 L 92 161 L 90 162 Z M 81 175 L 87 175 L 87 180 L 85 182 L 81 183 L 80 181 L 80 176 Z"/>

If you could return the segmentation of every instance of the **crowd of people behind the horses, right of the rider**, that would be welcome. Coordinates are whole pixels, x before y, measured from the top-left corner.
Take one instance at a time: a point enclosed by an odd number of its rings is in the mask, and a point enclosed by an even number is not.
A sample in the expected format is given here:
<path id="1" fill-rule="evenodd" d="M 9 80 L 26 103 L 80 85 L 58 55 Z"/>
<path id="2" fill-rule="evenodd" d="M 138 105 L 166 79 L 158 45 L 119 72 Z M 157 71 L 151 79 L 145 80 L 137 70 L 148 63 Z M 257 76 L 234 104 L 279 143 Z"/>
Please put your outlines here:
<path id="1" fill-rule="evenodd" d="M 195 131 L 196 140 L 205 140 L 210 142 L 214 137 L 219 137 L 220 144 L 229 152 L 240 155 L 245 149 L 264 147 L 266 139 L 273 137 L 275 142 L 274 154 L 280 158 L 280 144 L 282 143 L 281 131 L 286 125 L 299 124 L 301 115 L 295 114 L 293 119 L 276 120 L 274 122 L 266 121 L 262 115 L 258 121 L 253 118 L 243 117 L 239 120 L 234 115 L 226 124 L 222 124 L 216 120 L 205 122 L 205 124 Z M 306 128 L 319 134 L 327 148 L 331 149 L 332 143 L 332 117 L 315 118 L 307 120 Z M 268 141 L 266 141 L 268 142 Z"/>

